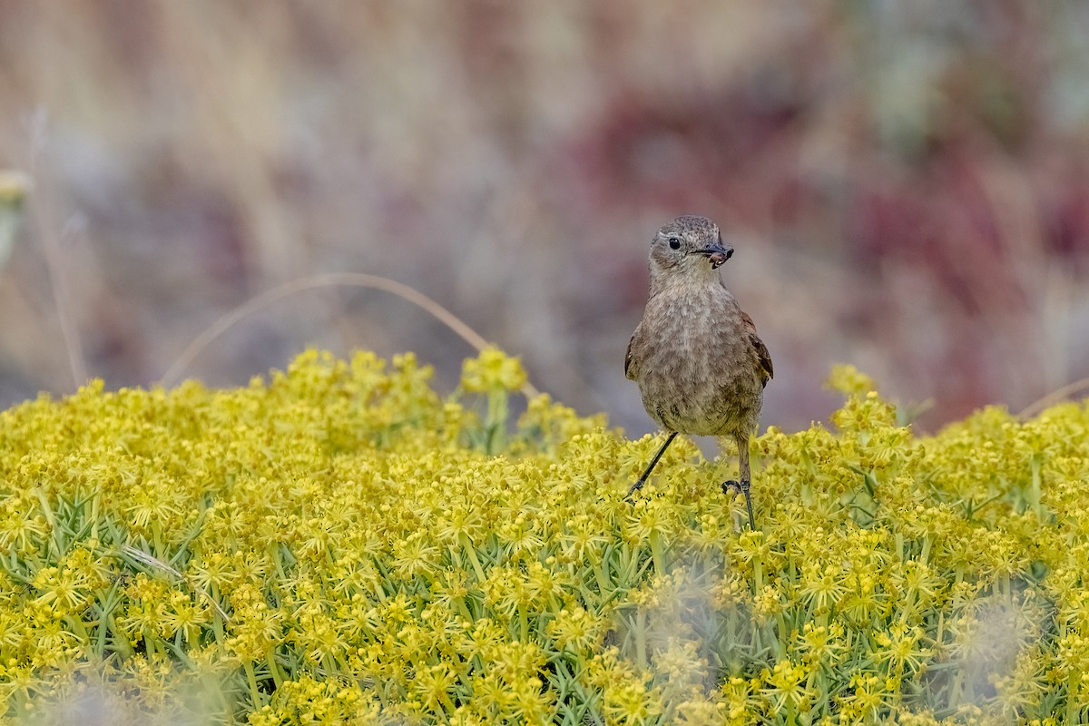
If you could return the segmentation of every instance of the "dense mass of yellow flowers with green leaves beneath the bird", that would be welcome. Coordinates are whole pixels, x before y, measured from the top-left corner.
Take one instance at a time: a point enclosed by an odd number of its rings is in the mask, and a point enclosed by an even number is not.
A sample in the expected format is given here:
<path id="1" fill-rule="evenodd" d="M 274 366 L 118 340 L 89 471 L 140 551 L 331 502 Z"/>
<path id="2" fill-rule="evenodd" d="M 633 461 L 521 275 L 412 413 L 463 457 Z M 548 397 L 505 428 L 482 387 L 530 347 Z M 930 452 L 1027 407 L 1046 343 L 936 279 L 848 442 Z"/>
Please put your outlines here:
<path id="1" fill-rule="evenodd" d="M 429 379 L 310 350 L 0 414 L 0 721 L 1089 721 L 1085 404 L 921 438 L 840 369 L 834 429 L 754 440 L 754 532 L 730 459 L 629 504 L 657 438 L 511 420 L 498 350 Z"/>

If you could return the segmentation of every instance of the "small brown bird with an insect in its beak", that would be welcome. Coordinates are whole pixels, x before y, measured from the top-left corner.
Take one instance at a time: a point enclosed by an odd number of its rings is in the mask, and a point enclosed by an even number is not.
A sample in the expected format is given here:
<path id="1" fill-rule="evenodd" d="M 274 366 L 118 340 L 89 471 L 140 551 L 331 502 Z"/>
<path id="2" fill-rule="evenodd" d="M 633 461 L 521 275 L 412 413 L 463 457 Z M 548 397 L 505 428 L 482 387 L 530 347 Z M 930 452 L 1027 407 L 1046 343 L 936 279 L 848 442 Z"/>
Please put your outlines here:
<path id="1" fill-rule="evenodd" d="M 669 432 L 650 466 L 632 484 L 640 489 L 678 433 L 732 439 L 741 483 L 723 493 L 745 494 L 749 527 L 749 435 L 760 419 L 771 356 L 756 325 L 719 276 L 733 256 L 718 225 L 706 217 L 678 217 L 650 243 L 650 295 L 643 320 L 627 344 L 624 373 L 639 384 L 650 418 Z"/>

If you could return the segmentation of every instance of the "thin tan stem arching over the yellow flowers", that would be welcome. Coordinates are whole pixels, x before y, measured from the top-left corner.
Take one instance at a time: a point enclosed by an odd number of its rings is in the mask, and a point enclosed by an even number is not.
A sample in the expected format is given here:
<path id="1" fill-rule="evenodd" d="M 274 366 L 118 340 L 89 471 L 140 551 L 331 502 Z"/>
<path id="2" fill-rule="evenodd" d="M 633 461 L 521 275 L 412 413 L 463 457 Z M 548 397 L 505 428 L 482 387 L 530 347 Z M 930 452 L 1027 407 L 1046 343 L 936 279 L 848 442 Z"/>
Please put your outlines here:
<path id="1" fill-rule="evenodd" d="M 222 335 L 229 328 L 237 323 L 243 318 L 250 316 L 267 305 L 290 295 L 318 287 L 337 286 L 370 287 L 391 293 L 401 299 L 407 300 L 416 307 L 430 312 L 477 350 L 484 350 L 489 345 L 488 341 L 465 324 L 461 318 L 415 287 L 411 287 L 403 282 L 364 272 L 327 272 L 325 274 L 310 275 L 299 280 L 291 280 L 277 285 L 271 290 L 265 291 L 260 295 L 252 297 L 238 307 L 221 316 L 216 322 L 193 339 L 193 342 L 189 343 L 184 350 L 182 350 L 182 354 L 178 357 L 178 359 L 174 360 L 170 368 L 167 369 L 167 372 L 162 374 L 162 378 L 159 379 L 159 384 L 169 386 L 176 383 L 179 378 L 181 378 L 182 372 L 198 355 L 200 355 L 206 347 L 208 347 L 209 343 Z M 522 387 L 522 392 L 529 397 L 538 394 L 537 389 L 529 382 L 526 382 L 526 384 Z"/>

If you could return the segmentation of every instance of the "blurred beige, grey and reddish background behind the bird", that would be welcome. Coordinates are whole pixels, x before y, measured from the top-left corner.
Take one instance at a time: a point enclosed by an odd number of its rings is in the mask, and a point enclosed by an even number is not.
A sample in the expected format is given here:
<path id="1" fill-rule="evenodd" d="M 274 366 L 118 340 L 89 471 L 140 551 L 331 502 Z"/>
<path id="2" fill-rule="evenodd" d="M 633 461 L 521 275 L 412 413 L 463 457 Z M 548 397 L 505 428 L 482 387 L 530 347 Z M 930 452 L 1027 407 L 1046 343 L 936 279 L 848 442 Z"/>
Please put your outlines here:
<path id="1" fill-rule="evenodd" d="M 325 272 L 424 292 L 637 435 L 650 238 L 711 217 L 775 361 L 934 429 L 1089 377 L 1089 3 L 0 3 L 0 406 L 160 379 Z M 183 371 L 473 349 L 388 293 L 273 300 Z"/>

